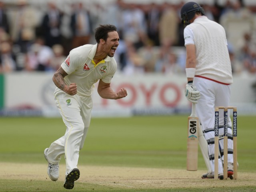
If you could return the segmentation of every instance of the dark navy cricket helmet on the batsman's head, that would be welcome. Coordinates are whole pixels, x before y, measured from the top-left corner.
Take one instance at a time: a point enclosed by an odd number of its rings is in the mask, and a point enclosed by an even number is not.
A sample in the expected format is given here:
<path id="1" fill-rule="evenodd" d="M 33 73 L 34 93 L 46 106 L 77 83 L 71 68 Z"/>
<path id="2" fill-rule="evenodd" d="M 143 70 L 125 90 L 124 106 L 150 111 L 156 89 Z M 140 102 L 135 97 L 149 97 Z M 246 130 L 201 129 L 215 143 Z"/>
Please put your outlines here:
<path id="1" fill-rule="evenodd" d="M 182 19 L 181 23 L 184 26 L 189 24 L 189 20 L 191 20 L 196 12 L 201 12 L 202 15 L 205 15 L 204 9 L 196 2 L 187 2 L 185 3 L 180 10 L 180 18 Z"/>

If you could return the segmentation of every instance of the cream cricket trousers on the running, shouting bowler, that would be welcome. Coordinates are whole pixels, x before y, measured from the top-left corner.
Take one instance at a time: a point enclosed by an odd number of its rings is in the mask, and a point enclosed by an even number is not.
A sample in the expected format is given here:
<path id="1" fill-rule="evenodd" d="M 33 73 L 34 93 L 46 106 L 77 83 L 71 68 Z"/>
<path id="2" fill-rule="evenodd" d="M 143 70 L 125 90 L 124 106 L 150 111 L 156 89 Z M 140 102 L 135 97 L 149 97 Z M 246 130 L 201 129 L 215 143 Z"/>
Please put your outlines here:
<path id="1" fill-rule="evenodd" d="M 55 103 L 66 125 L 64 136 L 54 141 L 47 152 L 48 161 L 52 164 L 60 162 L 63 154 L 66 159 L 66 175 L 77 168 L 79 150 L 90 126 L 92 98 L 90 96 L 71 96 L 56 89 Z"/>

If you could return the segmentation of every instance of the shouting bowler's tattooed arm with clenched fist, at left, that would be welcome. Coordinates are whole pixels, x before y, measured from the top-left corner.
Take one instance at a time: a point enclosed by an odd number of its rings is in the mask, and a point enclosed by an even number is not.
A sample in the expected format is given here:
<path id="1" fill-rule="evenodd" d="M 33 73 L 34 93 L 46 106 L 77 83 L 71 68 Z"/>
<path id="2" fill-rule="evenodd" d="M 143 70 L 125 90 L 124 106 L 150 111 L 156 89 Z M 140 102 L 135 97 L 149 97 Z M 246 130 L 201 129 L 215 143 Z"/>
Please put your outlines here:
<path id="1" fill-rule="evenodd" d="M 53 75 L 54 84 L 69 95 L 75 95 L 77 92 L 76 84 L 71 83 L 69 86 L 64 82 L 64 77 L 68 74 L 60 67 Z"/>

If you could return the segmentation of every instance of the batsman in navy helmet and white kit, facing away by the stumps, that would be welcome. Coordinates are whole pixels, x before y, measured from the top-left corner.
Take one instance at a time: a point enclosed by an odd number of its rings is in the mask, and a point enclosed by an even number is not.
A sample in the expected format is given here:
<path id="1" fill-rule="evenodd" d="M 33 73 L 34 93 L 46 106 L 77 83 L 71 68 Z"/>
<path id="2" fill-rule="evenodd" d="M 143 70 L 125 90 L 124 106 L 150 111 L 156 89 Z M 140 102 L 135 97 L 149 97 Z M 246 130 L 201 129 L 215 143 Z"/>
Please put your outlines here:
<path id="1" fill-rule="evenodd" d="M 186 47 L 186 98 L 196 104 L 200 121 L 198 142 L 208 168 L 202 179 L 214 178 L 214 108 L 229 106 L 233 83 L 228 43 L 224 28 L 209 20 L 196 2 L 184 4 L 180 11 Z M 228 177 L 233 175 L 232 122 L 228 114 Z M 218 178 L 223 179 L 224 119 L 219 118 Z"/>

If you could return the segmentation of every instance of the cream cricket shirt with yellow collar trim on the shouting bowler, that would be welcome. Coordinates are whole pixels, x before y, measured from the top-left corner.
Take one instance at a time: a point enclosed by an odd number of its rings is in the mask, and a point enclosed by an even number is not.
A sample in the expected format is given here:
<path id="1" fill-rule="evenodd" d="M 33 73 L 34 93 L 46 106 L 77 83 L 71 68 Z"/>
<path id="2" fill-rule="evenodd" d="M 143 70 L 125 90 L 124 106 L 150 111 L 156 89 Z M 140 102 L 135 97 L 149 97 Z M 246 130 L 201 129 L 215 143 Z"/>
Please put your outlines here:
<path id="1" fill-rule="evenodd" d="M 66 60 L 61 64 L 63 70 L 68 74 L 64 81 L 67 85 L 76 83 L 77 94 L 91 96 L 94 84 L 102 79 L 105 83 L 110 83 L 117 68 L 114 57 L 106 58 L 95 64 L 93 61 L 97 44 L 83 45 L 74 48 Z M 58 88 L 56 88 L 55 92 Z"/>

